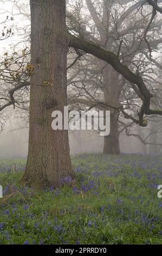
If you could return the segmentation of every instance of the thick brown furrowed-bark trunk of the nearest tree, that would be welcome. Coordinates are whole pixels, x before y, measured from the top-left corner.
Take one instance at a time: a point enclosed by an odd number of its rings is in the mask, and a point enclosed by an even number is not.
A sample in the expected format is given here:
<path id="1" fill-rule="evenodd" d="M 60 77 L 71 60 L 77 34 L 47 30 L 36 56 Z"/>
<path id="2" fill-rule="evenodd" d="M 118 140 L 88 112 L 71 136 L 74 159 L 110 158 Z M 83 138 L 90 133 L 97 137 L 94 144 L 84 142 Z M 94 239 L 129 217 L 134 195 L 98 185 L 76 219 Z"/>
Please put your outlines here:
<path id="1" fill-rule="evenodd" d="M 51 113 L 56 109 L 63 113 L 67 105 L 65 2 L 30 0 L 35 74 L 31 76 L 29 149 L 23 181 L 36 187 L 59 187 L 62 179 L 74 177 L 68 131 L 51 129 Z M 50 86 L 45 82 L 49 80 Z"/>

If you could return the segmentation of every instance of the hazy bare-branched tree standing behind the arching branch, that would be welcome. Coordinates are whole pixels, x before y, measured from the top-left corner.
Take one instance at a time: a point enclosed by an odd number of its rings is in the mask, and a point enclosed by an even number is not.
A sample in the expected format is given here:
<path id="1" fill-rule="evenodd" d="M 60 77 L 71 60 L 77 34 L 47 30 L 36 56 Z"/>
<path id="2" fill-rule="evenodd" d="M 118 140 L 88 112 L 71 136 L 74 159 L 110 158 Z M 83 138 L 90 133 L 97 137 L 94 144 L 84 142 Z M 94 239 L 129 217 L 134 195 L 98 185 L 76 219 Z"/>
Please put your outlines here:
<path id="1" fill-rule="evenodd" d="M 152 9 L 148 8 L 148 4 L 144 14 L 142 11 L 144 2 L 132 2 L 132 5 L 126 5 L 129 2 L 131 1 L 86 0 L 90 15 L 88 13 L 85 15 L 81 11 L 85 5 L 82 1 L 77 1 L 76 6 L 71 5 L 75 16 L 67 15 L 69 29 L 71 28 L 82 38 L 92 39 L 100 46 L 114 52 L 122 64 L 142 76 L 147 87 L 152 89 L 155 77 L 159 76 L 161 65 L 155 62 L 154 58 L 150 59 L 149 50 L 158 51 L 158 45 L 161 42 L 161 33 L 158 33 L 158 30 L 162 23 L 160 19 L 157 19 L 152 26 L 150 25 Z M 149 42 L 146 32 L 149 32 Z M 74 65 L 71 71 L 72 78 L 69 78 L 71 86 L 76 88 L 76 93 L 71 97 L 79 99 L 78 103 L 79 101 L 83 102 L 81 98 L 85 97 L 87 106 L 89 99 L 89 107 L 92 102 L 94 106 L 99 106 L 98 102 L 102 102 L 102 105 L 111 111 L 111 132 L 104 137 L 103 153 L 119 154 L 119 121 L 122 112 L 118 106 L 123 106 L 125 112 L 137 117 L 138 112 L 135 105 L 140 105 L 141 99 L 137 98 L 137 90 L 136 93 L 133 92 L 133 85 L 121 77 L 111 65 L 85 55 L 81 59 L 77 65 Z M 157 71 L 155 71 L 155 67 L 157 67 Z M 152 74 L 155 75 L 154 78 L 151 77 Z M 154 96 L 157 87 L 160 87 L 160 81 L 156 85 L 156 89 L 154 87 Z M 136 89 L 135 86 L 133 88 Z M 85 93 L 83 93 L 84 90 Z M 157 90 L 158 92 L 159 90 Z M 127 117 L 127 115 L 124 116 Z M 126 134 L 128 133 L 126 132 Z"/>

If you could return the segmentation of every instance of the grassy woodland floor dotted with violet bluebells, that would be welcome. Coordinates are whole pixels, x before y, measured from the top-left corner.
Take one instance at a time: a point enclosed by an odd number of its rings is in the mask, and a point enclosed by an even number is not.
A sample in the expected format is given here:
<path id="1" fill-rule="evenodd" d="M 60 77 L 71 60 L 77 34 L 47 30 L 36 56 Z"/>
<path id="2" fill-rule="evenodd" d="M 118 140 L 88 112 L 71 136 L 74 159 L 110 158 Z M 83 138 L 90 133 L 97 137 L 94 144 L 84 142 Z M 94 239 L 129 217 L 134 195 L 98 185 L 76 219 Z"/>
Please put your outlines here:
<path id="1" fill-rule="evenodd" d="M 25 161 L 0 160 L 0 244 L 162 244 L 162 157 L 77 155 L 76 186 L 43 192 Z"/>

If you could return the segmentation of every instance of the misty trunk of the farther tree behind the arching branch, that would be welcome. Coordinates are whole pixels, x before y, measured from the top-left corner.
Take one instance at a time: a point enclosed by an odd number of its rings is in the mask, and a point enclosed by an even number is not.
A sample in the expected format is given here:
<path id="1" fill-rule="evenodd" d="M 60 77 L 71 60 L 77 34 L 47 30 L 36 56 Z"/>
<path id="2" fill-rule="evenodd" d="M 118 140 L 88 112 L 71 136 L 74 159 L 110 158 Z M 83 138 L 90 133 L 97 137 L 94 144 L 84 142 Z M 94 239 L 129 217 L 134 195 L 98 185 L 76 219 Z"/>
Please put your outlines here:
<path id="1" fill-rule="evenodd" d="M 119 82 L 119 74 L 109 65 L 102 64 L 104 102 L 112 105 L 119 105 L 119 97 L 122 86 Z M 104 137 L 103 154 L 120 154 L 119 131 L 118 131 L 118 113 L 113 109 L 111 111 L 110 134 Z"/>

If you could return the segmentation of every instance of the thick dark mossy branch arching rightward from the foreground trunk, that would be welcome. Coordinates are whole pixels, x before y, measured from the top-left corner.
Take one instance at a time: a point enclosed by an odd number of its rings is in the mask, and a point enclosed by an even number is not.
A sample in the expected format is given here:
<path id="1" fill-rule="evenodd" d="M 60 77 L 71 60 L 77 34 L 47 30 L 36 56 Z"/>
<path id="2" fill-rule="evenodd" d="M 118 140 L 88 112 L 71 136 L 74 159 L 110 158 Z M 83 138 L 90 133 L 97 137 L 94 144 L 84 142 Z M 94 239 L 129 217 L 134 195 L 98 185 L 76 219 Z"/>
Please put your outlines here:
<path id="1" fill-rule="evenodd" d="M 139 125 L 146 126 L 146 120 L 143 119 L 144 114 L 159 114 L 162 115 L 162 110 L 150 109 L 150 100 L 153 95 L 147 89 L 144 81 L 139 76 L 139 74 L 133 73 L 127 66 L 122 64 L 119 58 L 111 51 L 107 51 L 100 45 L 94 42 L 86 41 L 82 38 L 77 38 L 76 36 L 69 34 L 69 46 L 90 53 L 93 56 L 104 60 L 110 64 L 119 74 L 124 76 L 129 82 L 132 82 L 138 86 L 139 92 L 142 95 L 143 103 L 141 110 L 139 112 Z"/>

